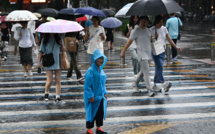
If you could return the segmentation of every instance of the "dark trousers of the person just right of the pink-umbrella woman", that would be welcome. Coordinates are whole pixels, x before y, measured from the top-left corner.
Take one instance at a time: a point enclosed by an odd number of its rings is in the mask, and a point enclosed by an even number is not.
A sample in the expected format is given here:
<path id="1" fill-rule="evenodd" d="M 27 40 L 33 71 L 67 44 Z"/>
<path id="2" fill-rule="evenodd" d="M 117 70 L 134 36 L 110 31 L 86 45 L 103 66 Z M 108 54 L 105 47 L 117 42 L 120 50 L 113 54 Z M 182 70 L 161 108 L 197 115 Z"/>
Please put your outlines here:
<path id="1" fill-rule="evenodd" d="M 70 61 L 70 68 L 68 69 L 67 77 L 72 76 L 73 68 L 75 70 L 77 79 L 82 77 L 81 72 L 77 67 L 77 60 L 76 60 L 77 54 L 78 54 L 77 52 L 69 52 L 71 61 Z"/>

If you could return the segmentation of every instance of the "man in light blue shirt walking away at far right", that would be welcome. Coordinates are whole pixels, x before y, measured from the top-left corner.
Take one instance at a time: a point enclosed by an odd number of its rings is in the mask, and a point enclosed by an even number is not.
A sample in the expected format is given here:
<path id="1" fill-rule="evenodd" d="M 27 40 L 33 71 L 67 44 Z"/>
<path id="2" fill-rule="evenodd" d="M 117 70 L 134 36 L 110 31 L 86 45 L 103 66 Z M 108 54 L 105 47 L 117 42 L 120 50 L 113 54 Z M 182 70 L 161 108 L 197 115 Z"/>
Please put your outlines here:
<path id="1" fill-rule="evenodd" d="M 166 22 L 166 28 L 169 31 L 170 38 L 174 41 L 174 43 L 177 43 L 177 40 L 180 39 L 180 26 L 182 26 L 182 22 L 180 18 L 175 17 L 175 14 L 170 14 L 170 18 Z M 172 47 L 172 46 L 171 46 Z M 172 47 L 172 61 L 173 64 L 177 63 L 177 49 Z"/>

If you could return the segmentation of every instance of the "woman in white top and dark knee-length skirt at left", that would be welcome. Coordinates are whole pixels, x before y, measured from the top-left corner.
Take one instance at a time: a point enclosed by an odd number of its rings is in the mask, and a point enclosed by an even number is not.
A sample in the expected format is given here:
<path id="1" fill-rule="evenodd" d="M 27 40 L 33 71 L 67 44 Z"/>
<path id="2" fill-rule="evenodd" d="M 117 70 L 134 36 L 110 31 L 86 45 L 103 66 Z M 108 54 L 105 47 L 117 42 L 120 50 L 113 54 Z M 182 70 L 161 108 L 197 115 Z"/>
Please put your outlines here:
<path id="1" fill-rule="evenodd" d="M 27 77 L 33 75 L 31 71 L 33 66 L 32 44 L 35 46 L 35 49 L 37 49 L 37 45 L 33 34 L 30 29 L 27 28 L 27 21 L 22 21 L 20 24 L 22 28 L 16 32 L 14 38 L 19 41 L 20 63 L 24 69 L 24 77 Z"/>

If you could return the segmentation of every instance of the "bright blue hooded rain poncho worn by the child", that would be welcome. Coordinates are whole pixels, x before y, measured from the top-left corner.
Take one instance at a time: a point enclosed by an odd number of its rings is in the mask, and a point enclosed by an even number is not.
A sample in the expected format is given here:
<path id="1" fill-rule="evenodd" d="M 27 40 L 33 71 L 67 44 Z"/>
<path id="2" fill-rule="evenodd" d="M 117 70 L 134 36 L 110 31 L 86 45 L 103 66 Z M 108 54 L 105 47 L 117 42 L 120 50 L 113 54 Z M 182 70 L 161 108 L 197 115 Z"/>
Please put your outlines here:
<path id="1" fill-rule="evenodd" d="M 100 66 L 100 71 L 96 66 L 96 59 L 104 57 L 104 63 Z M 85 74 L 85 83 L 84 83 L 84 102 L 86 110 L 86 121 L 92 122 L 100 105 L 101 100 L 103 99 L 103 111 L 104 119 L 107 111 L 107 99 L 104 97 L 107 94 L 105 87 L 107 76 L 103 71 L 103 67 L 107 62 L 107 57 L 102 54 L 98 49 L 93 53 L 93 64 L 88 68 Z M 89 101 L 90 98 L 94 97 L 94 102 Z"/>

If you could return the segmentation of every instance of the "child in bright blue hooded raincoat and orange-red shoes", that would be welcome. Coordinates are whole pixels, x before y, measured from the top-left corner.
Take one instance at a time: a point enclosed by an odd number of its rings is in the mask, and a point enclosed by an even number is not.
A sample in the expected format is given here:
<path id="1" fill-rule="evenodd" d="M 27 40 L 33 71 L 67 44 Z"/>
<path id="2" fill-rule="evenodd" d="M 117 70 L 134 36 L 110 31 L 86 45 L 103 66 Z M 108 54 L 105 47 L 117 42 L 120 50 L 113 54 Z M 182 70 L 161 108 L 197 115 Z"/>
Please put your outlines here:
<path id="1" fill-rule="evenodd" d="M 105 87 L 107 76 L 103 67 L 107 57 L 96 49 L 93 53 L 93 64 L 85 74 L 84 102 L 86 110 L 87 134 L 93 134 L 92 128 L 96 121 L 96 134 L 107 134 L 101 129 L 107 111 L 107 90 Z"/>

